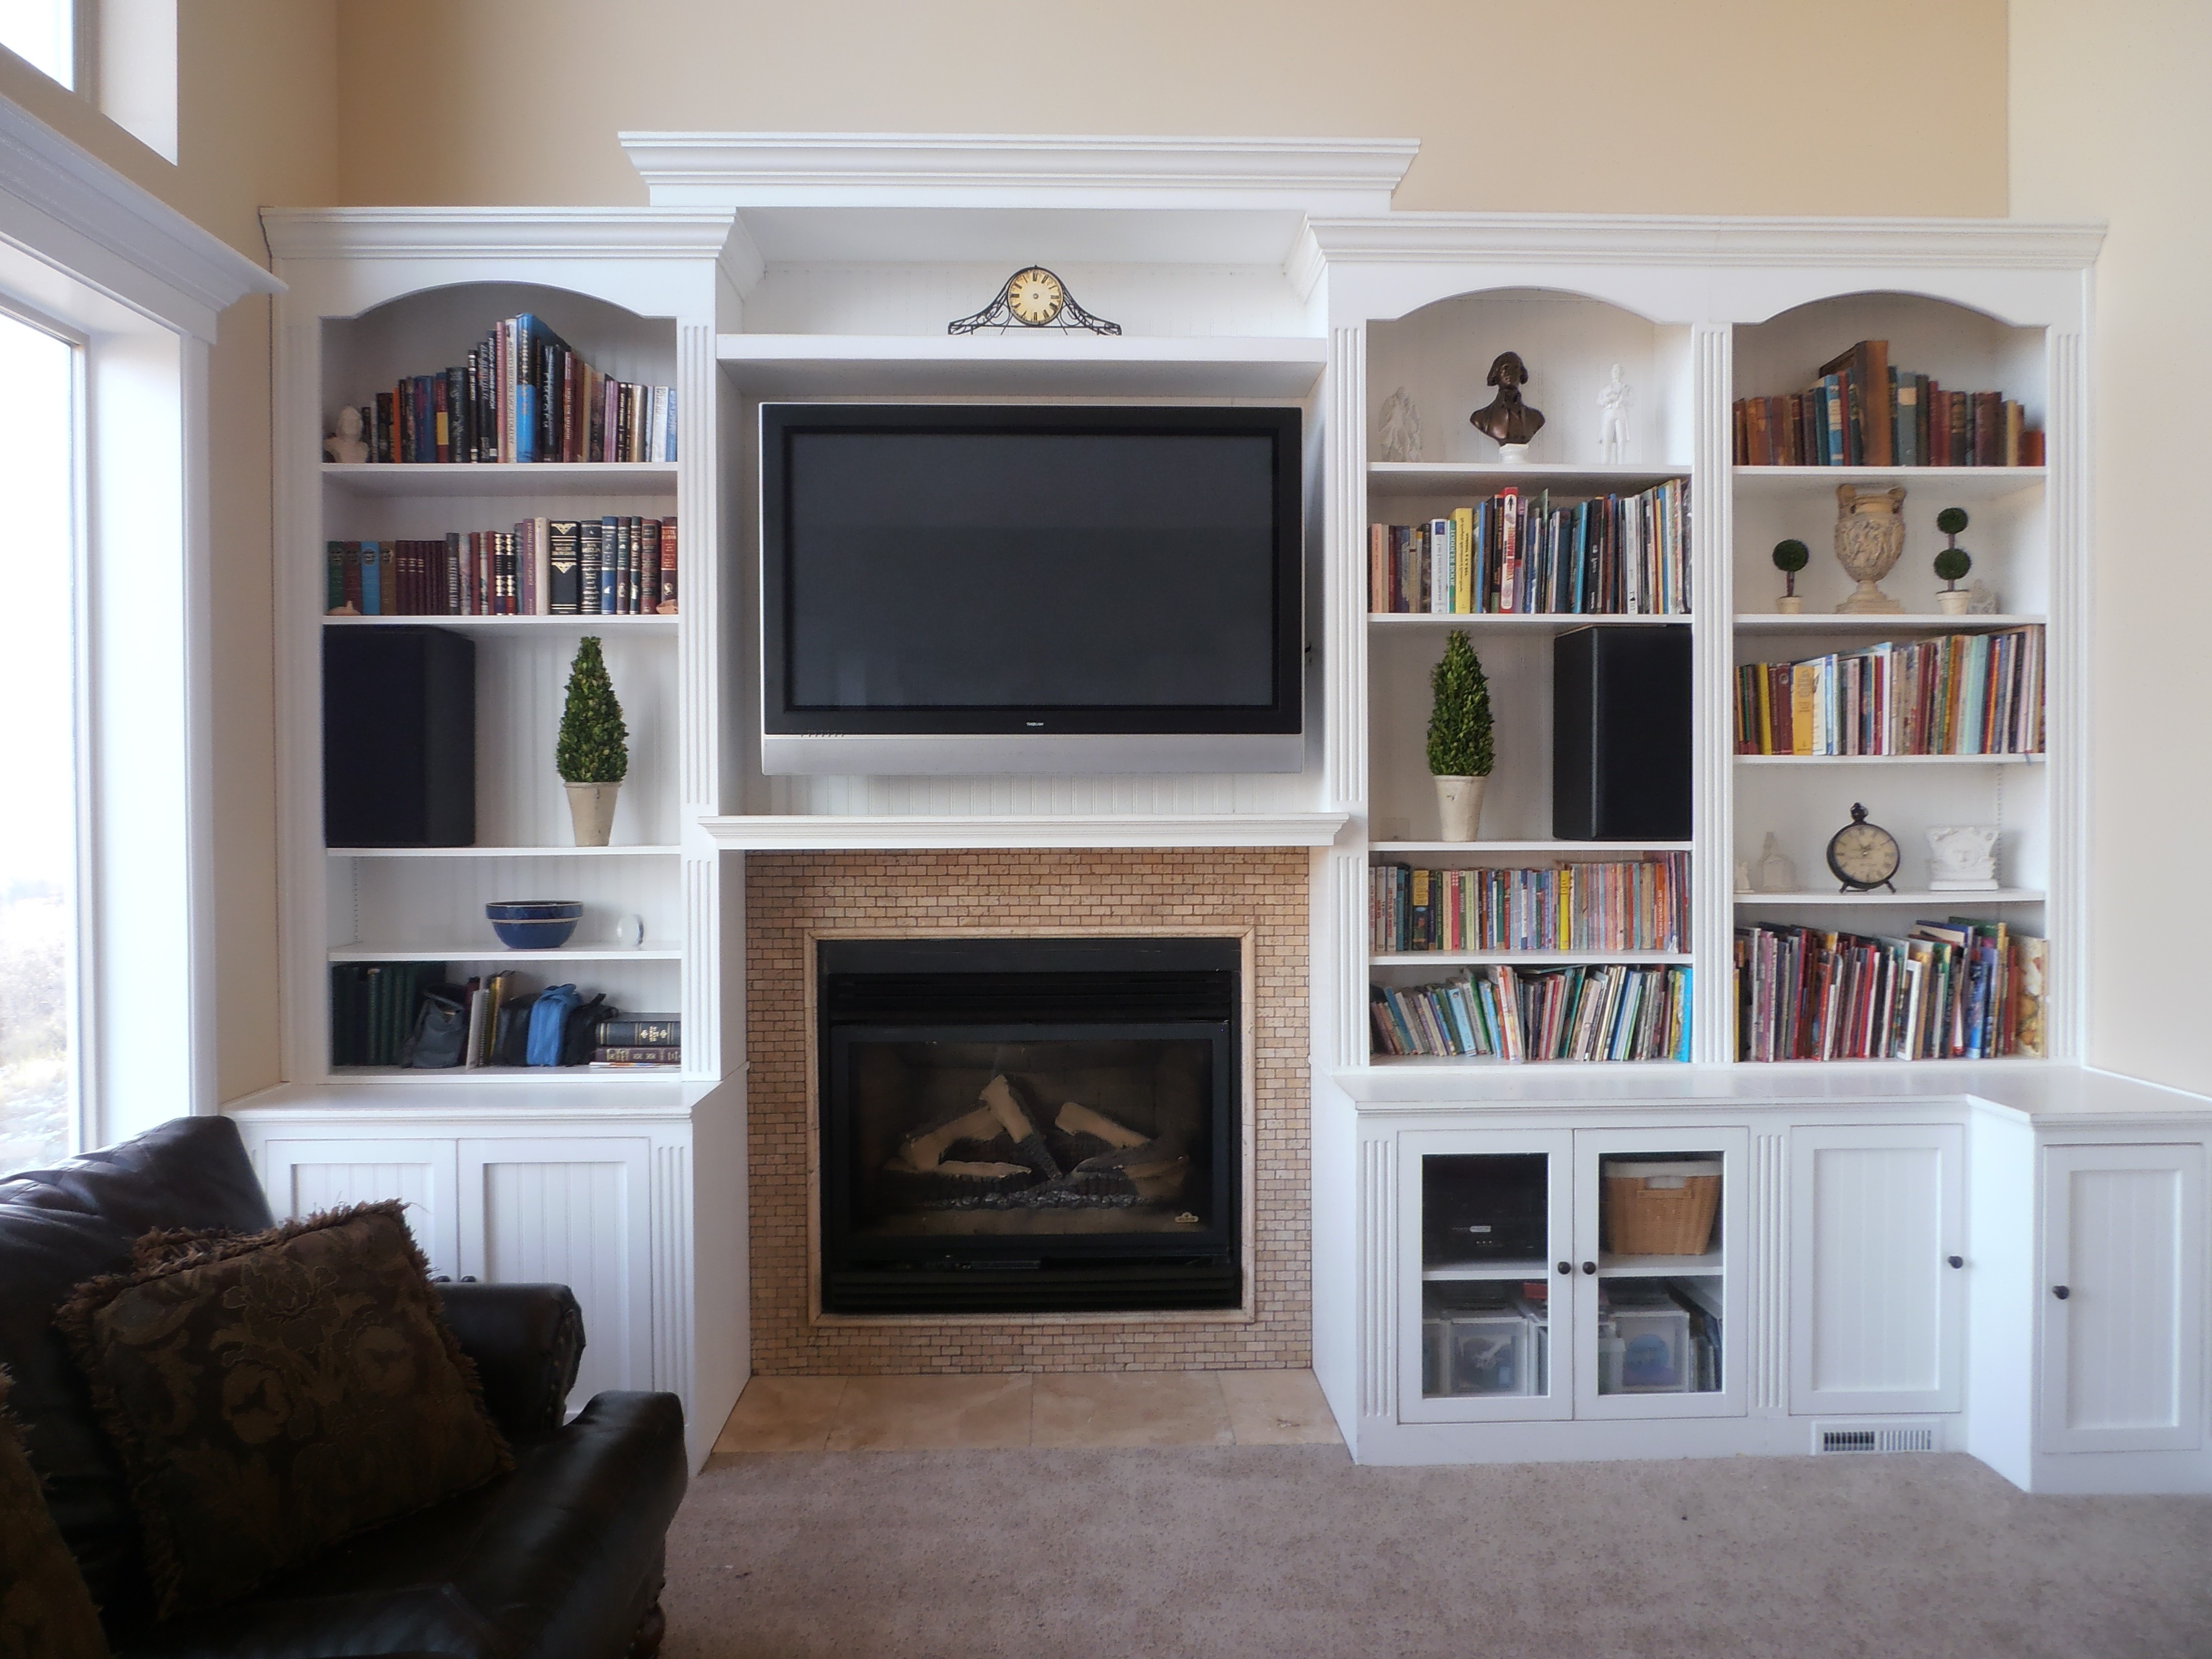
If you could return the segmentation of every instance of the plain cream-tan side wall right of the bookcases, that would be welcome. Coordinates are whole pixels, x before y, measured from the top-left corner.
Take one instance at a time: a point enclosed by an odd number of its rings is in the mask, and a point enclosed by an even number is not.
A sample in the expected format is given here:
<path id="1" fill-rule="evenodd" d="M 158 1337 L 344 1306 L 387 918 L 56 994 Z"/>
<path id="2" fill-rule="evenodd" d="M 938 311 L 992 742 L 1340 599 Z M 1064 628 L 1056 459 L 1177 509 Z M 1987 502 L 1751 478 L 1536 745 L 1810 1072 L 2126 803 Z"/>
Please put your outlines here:
<path id="1" fill-rule="evenodd" d="M 2212 1091 L 2203 708 L 2212 560 L 2197 482 L 2212 363 L 2212 7 L 2013 4 L 2013 212 L 2108 219 L 2090 535 L 2088 1060 Z"/>

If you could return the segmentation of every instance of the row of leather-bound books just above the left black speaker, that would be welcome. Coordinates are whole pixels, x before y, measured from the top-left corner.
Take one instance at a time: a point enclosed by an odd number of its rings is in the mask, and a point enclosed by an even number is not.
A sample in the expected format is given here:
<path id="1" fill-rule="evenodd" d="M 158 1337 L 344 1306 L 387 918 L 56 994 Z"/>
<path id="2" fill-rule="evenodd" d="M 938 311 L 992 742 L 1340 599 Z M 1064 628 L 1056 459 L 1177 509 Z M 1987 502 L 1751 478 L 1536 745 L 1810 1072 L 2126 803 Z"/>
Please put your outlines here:
<path id="1" fill-rule="evenodd" d="M 330 542 L 334 617 L 677 615 L 677 522 L 526 518 L 445 540 Z"/>

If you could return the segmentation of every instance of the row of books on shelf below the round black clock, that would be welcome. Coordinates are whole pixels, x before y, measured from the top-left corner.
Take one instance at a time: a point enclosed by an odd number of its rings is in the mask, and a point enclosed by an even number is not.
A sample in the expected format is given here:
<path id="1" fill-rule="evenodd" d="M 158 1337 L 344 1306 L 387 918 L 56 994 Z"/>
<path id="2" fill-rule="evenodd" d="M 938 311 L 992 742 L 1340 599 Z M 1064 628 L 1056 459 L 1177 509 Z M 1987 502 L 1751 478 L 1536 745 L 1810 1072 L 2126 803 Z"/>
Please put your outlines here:
<path id="1" fill-rule="evenodd" d="M 2044 1053 L 2048 942 L 1953 916 L 1905 938 L 1736 929 L 1739 1060 Z"/>

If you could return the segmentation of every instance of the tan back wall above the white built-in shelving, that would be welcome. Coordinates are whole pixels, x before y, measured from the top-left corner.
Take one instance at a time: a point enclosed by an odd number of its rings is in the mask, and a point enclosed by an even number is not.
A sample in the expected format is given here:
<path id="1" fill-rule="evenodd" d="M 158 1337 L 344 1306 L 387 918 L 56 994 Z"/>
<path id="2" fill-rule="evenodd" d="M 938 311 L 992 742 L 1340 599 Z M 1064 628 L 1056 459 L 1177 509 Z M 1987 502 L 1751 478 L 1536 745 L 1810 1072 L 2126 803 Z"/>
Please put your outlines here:
<path id="1" fill-rule="evenodd" d="M 338 27 L 347 201 L 644 201 L 619 128 L 790 128 L 1418 137 L 1400 208 L 2004 212 L 2002 0 L 387 0 Z M 568 119 L 513 88 L 573 88 Z"/>

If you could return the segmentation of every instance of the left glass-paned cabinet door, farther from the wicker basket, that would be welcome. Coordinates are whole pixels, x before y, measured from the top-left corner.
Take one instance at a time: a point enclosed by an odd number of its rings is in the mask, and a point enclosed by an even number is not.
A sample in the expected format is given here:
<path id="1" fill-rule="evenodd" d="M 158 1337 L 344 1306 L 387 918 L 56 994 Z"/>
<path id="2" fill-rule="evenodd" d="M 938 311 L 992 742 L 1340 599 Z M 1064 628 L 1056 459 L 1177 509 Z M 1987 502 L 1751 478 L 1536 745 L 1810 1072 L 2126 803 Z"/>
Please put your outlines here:
<path id="1" fill-rule="evenodd" d="M 1400 1420 L 1573 1411 L 1571 1152 L 1566 1130 L 1400 1137 Z"/>

